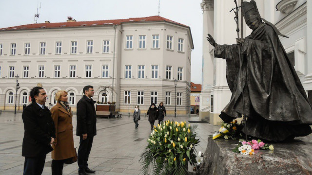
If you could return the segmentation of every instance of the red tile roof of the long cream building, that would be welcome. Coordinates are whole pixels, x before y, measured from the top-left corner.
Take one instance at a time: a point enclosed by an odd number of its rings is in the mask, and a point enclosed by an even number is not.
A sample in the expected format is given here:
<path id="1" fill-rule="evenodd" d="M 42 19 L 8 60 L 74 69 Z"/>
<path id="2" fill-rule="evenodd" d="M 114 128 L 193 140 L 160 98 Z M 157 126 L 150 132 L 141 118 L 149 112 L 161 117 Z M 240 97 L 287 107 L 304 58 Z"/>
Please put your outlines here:
<path id="1" fill-rule="evenodd" d="M 39 24 L 26 24 L 14 27 L 7 27 L 0 29 L 1 31 L 12 31 L 12 30 L 28 30 L 28 29 L 51 29 L 51 28 L 66 28 L 66 27 L 91 27 L 91 26 L 110 26 L 119 25 L 122 23 L 130 22 L 156 22 L 156 21 L 167 21 L 183 27 L 189 27 L 184 24 L 175 22 L 173 20 L 163 18 L 160 16 L 144 17 L 144 18 L 129 18 L 129 19 L 111 19 L 111 20 L 97 20 L 97 21 L 77 21 L 77 22 L 57 22 L 57 23 L 39 23 Z"/>

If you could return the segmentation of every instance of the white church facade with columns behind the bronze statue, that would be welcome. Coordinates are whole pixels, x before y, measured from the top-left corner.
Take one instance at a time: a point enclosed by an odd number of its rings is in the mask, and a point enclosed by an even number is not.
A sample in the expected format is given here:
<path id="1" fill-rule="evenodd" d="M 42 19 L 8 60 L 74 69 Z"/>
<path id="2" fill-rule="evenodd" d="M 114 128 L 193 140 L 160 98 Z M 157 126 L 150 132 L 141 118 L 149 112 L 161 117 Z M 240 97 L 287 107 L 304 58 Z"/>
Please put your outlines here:
<path id="1" fill-rule="evenodd" d="M 246 0 L 244 0 L 246 1 Z M 249 1 L 249 0 L 248 0 Z M 312 1 L 309 0 L 255 0 L 262 18 L 275 24 L 277 29 L 289 38 L 280 40 L 293 60 L 294 68 L 312 102 Z M 241 0 L 237 0 L 238 5 Z M 214 36 L 218 44 L 236 43 L 236 23 L 233 1 L 203 0 L 203 38 L 207 34 Z M 239 28 L 243 37 L 252 32 L 245 24 L 241 25 L 239 13 Z M 242 27 L 241 27 L 242 26 Z M 241 36 L 241 32 L 239 33 Z M 309 56 L 310 55 L 310 56 Z M 203 80 L 201 91 L 200 117 L 207 118 L 212 124 L 221 122 L 218 115 L 229 103 L 231 91 L 226 81 L 226 61 L 214 58 L 214 47 L 203 39 Z M 206 101 L 204 100 L 206 98 Z M 207 102 L 207 103 L 204 103 Z"/>

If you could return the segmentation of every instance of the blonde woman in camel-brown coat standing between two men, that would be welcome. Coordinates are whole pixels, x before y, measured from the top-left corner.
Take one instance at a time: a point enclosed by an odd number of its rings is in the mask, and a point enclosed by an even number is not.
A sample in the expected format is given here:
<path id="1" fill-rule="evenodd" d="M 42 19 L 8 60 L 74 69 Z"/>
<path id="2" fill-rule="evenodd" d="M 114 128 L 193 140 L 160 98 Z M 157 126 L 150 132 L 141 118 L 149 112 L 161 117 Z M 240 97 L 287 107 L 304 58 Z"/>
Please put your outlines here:
<path id="1" fill-rule="evenodd" d="M 51 108 L 52 119 L 55 124 L 56 138 L 52 145 L 52 175 L 62 175 L 63 165 L 77 161 L 77 153 L 73 137 L 73 114 L 69 107 L 65 90 L 55 94 L 57 104 Z"/>

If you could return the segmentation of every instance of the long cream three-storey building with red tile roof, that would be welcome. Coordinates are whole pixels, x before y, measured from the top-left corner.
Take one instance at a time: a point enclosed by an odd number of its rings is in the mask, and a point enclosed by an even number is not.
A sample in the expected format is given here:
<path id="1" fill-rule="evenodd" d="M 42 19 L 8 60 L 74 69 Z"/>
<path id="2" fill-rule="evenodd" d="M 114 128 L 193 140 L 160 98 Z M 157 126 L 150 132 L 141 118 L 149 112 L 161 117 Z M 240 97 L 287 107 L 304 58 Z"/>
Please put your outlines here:
<path id="1" fill-rule="evenodd" d="M 174 113 L 176 100 L 177 113 L 185 114 L 193 48 L 190 27 L 159 16 L 0 29 L 0 109 L 13 110 L 17 100 L 21 110 L 40 83 L 46 105 L 64 89 L 75 110 L 82 88 L 92 85 L 95 101 L 116 102 L 120 112 L 163 102 Z"/>

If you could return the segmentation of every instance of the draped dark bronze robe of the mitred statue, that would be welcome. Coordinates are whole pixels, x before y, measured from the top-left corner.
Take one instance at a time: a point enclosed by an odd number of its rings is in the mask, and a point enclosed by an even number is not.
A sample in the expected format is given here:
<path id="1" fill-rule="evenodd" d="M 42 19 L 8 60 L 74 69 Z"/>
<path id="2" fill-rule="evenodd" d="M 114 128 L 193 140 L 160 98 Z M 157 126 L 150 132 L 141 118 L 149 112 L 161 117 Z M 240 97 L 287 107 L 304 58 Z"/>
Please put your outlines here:
<path id="1" fill-rule="evenodd" d="M 226 59 L 232 91 L 220 118 L 227 123 L 242 116 L 242 83 L 249 136 L 282 141 L 311 134 L 312 107 L 273 28 L 261 24 L 244 39 L 240 52 L 242 77 L 239 46 L 215 45 L 215 57 Z"/>

